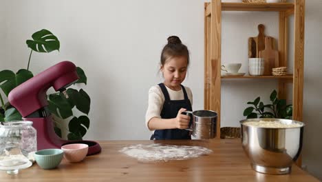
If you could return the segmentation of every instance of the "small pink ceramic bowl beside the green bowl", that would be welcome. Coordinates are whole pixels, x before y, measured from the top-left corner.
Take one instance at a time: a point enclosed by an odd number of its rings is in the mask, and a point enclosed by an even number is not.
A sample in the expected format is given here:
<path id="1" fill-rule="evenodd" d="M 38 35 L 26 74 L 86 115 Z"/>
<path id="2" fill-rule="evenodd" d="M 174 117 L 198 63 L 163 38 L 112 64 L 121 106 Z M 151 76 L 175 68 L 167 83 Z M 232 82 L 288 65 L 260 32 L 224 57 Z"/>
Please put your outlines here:
<path id="1" fill-rule="evenodd" d="M 85 158 L 88 151 L 88 145 L 84 143 L 67 144 L 63 145 L 61 150 L 64 151 L 64 157 L 67 161 L 77 163 L 83 161 Z"/>

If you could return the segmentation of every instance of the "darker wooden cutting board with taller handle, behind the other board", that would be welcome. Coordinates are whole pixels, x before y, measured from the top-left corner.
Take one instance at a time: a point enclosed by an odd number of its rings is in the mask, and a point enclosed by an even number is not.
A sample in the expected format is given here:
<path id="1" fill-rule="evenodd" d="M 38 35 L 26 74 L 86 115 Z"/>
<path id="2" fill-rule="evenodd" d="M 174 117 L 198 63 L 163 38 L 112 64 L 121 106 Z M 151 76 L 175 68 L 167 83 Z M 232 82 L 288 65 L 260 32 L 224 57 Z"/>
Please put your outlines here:
<path id="1" fill-rule="evenodd" d="M 265 49 L 265 26 L 263 24 L 258 25 L 258 35 L 257 37 L 248 38 L 248 58 L 259 57 L 259 51 Z M 270 45 L 272 49 L 275 49 L 275 39 L 271 39 Z"/>

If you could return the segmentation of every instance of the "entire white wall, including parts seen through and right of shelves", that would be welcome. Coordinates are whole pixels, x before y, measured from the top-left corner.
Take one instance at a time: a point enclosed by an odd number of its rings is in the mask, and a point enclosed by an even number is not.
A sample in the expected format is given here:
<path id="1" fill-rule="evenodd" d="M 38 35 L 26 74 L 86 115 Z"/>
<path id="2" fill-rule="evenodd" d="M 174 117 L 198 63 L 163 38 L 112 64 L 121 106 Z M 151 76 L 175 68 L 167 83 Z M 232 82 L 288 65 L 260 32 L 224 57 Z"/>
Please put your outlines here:
<path id="1" fill-rule="evenodd" d="M 306 1 L 303 105 L 303 121 L 308 123 L 303 164 L 320 179 L 321 8 L 320 0 Z M 85 70 L 88 84 L 83 88 L 92 99 L 86 139 L 149 139 L 144 125 L 148 90 L 162 81 L 158 75 L 160 52 L 172 34 L 191 50 L 191 68 L 184 85 L 193 90 L 193 109 L 203 108 L 203 0 L 5 0 L 1 1 L 0 16 L 1 69 L 26 68 L 30 50 L 25 40 L 46 28 L 61 41 L 61 51 L 34 52 L 31 70 L 38 73 L 64 60 Z M 243 63 L 241 71 L 247 72 L 248 37 L 257 36 L 257 25 L 264 23 L 266 34 L 278 38 L 277 17 L 276 12 L 224 12 L 222 62 Z M 268 102 L 276 86 L 276 81 L 269 80 L 222 81 L 222 126 L 239 125 L 246 102 L 257 96 Z"/>

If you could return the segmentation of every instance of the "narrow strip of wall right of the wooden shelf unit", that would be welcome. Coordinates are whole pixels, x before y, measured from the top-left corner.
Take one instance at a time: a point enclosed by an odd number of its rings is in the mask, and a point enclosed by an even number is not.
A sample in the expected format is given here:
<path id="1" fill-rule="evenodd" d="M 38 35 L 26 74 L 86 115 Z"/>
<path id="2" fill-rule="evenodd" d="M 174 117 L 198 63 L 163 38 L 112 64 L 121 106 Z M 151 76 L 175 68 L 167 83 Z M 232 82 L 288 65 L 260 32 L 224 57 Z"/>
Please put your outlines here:
<path id="1" fill-rule="evenodd" d="M 306 1 L 303 121 L 303 164 L 322 180 L 322 1 Z"/>

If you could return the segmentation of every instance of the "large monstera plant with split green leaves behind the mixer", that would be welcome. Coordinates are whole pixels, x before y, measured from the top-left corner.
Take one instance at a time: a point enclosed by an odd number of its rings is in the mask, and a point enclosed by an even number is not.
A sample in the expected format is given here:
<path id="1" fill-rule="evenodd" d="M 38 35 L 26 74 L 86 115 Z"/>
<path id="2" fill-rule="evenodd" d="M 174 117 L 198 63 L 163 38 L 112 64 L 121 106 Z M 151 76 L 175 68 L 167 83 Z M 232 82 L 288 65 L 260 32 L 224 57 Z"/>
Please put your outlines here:
<path id="1" fill-rule="evenodd" d="M 20 69 L 16 73 L 12 70 L 0 71 L 0 88 L 8 97 L 9 92 L 16 88 L 21 83 L 34 77 L 34 74 L 29 70 L 30 59 L 32 52 L 52 52 L 60 48 L 60 42 L 57 37 L 48 30 L 40 30 L 32 34 L 32 39 L 26 41 L 28 48 L 31 49 L 28 60 L 27 69 Z M 45 68 L 44 68 L 45 69 Z M 77 74 L 80 79 L 75 83 L 87 84 L 87 77 L 85 72 L 77 67 Z M 61 136 L 61 130 L 67 130 L 60 125 L 65 119 L 70 119 L 68 123 L 68 134 L 69 140 L 80 140 L 86 134 L 89 128 L 88 113 L 90 109 L 91 99 L 85 90 L 76 90 L 68 88 L 66 90 L 68 99 L 66 99 L 61 92 L 50 93 L 47 95 L 47 101 L 49 103 L 49 109 L 52 113 L 52 119 L 54 120 L 54 130 L 58 136 Z M 21 120 L 21 114 L 10 105 L 5 103 L 3 96 L 0 93 L 0 121 L 14 121 Z M 76 108 L 85 115 L 76 117 L 73 108 Z"/>

